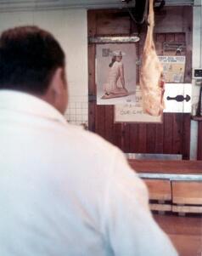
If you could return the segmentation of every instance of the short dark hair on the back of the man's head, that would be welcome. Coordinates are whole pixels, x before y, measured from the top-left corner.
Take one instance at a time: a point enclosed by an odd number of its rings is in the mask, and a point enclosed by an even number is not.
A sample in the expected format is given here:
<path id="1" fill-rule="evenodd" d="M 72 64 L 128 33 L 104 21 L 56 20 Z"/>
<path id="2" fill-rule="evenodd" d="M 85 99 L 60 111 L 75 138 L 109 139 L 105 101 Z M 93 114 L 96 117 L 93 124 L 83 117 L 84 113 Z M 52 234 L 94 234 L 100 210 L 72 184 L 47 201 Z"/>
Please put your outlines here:
<path id="1" fill-rule="evenodd" d="M 58 67 L 65 67 L 65 54 L 48 31 L 19 26 L 0 37 L 0 89 L 45 94 Z"/>

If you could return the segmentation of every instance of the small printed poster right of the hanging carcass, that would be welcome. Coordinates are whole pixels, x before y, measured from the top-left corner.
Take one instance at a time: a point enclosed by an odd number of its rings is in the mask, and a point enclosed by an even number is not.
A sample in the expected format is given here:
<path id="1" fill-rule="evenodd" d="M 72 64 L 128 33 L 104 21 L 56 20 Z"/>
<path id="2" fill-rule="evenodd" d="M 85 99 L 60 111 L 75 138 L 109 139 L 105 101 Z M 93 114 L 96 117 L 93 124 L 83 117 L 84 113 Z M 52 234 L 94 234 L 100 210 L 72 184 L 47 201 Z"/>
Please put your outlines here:
<path id="1" fill-rule="evenodd" d="M 165 82 L 184 82 L 185 56 L 159 56 Z"/>

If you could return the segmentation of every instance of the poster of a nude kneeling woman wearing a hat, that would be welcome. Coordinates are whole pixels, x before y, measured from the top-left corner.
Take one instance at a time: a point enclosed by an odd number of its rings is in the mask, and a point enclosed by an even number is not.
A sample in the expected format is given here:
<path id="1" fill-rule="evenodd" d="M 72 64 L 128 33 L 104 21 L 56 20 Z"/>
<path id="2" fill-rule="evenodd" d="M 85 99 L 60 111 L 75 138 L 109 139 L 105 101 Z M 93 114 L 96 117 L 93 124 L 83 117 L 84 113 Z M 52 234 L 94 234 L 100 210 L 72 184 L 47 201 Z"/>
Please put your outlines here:
<path id="1" fill-rule="evenodd" d="M 96 45 L 98 105 L 135 103 L 136 46 L 134 43 Z"/>

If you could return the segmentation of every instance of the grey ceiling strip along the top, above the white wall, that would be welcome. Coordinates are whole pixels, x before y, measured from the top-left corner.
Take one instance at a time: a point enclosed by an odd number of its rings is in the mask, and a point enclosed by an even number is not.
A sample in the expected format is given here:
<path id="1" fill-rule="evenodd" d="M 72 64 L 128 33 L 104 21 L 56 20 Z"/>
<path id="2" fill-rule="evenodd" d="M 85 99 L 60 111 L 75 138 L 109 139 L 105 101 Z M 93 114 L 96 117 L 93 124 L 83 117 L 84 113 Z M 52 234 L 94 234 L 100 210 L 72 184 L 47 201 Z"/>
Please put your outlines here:
<path id="1" fill-rule="evenodd" d="M 166 6 L 193 5 L 193 3 L 194 0 L 166 0 Z M 0 0 L 0 12 L 37 9 L 122 9 L 134 5 L 135 0 L 130 3 L 121 0 Z"/>

